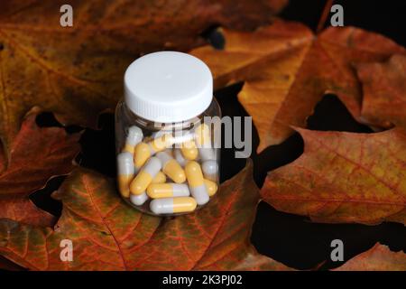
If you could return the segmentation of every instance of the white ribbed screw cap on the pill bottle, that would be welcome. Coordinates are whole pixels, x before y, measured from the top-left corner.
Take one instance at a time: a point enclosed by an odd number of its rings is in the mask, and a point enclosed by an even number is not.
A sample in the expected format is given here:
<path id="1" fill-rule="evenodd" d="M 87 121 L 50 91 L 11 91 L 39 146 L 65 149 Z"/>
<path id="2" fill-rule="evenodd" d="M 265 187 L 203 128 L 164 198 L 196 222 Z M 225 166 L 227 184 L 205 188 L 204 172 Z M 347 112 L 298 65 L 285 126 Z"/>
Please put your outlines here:
<path id="1" fill-rule="evenodd" d="M 212 98 L 208 66 L 187 53 L 146 54 L 125 71 L 125 104 L 150 121 L 172 123 L 197 117 Z"/>

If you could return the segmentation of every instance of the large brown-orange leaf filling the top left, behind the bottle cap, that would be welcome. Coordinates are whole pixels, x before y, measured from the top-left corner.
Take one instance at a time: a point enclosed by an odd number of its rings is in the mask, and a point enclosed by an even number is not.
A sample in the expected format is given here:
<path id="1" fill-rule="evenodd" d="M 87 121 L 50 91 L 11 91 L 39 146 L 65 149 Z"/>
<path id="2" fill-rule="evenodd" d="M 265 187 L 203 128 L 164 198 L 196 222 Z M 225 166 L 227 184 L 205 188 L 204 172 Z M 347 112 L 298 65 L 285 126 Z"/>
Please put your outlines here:
<path id="1" fill-rule="evenodd" d="M 2 0 L 0 139 L 5 151 L 9 154 L 32 107 L 53 112 L 66 125 L 96 127 L 98 114 L 121 98 L 125 68 L 141 53 L 188 50 L 203 43 L 200 33 L 213 24 L 269 23 L 285 3 L 76 0 L 69 1 L 73 26 L 62 27 L 63 1 Z"/>

